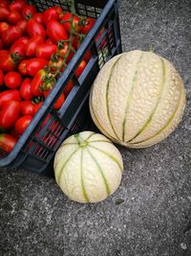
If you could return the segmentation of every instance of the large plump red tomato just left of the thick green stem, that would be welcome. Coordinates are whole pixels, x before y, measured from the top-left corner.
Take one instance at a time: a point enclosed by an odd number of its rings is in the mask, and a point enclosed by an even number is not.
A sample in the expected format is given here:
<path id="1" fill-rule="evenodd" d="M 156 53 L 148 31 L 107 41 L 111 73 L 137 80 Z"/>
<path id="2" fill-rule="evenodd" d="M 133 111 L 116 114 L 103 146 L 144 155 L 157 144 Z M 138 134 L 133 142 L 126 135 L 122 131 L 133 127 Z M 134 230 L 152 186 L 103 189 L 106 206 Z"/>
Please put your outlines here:
<path id="1" fill-rule="evenodd" d="M 69 35 L 62 24 L 53 19 L 47 23 L 47 35 L 49 35 L 54 43 L 69 39 Z"/>

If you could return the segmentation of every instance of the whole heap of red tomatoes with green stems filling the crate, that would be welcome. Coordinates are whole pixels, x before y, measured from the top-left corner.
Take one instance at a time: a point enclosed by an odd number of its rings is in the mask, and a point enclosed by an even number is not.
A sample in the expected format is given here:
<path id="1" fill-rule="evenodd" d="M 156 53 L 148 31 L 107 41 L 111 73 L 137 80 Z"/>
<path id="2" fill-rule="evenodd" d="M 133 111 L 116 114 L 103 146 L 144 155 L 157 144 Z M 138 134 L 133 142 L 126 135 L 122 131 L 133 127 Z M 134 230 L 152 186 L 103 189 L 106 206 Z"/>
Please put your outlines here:
<path id="1" fill-rule="evenodd" d="M 64 12 L 59 6 L 37 12 L 26 0 L 0 1 L 0 149 L 12 150 L 53 89 L 57 79 L 53 74 L 63 71 L 81 43 L 79 35 L 85 36 L 94 23 L 93 18 Z M 89 51 L 76 77 L 90 58 Z M 50 76 L 54 80 L 46 84 Z M 63 105 L 73 86 L 69 81 L 55 109 Z"/>

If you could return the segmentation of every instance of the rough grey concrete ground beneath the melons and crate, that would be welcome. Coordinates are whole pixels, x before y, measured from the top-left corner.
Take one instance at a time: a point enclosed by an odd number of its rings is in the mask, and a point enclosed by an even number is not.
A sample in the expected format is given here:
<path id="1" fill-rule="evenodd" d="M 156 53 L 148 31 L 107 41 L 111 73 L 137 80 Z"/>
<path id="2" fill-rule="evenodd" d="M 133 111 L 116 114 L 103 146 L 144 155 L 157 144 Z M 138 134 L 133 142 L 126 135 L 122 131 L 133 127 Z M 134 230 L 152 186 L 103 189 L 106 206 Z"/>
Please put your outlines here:
<path id="1" fill-rule="evenodd" d="M 187 105 L 179 128 L 146 150 L 118 147 L 117 192 L 96 204 L 66 198 L 53 179 L 0 172 L 0 255 L 191 255 L 191 2 L 119 0 L 123 51 L 149 50 L 179 70 Z"/>

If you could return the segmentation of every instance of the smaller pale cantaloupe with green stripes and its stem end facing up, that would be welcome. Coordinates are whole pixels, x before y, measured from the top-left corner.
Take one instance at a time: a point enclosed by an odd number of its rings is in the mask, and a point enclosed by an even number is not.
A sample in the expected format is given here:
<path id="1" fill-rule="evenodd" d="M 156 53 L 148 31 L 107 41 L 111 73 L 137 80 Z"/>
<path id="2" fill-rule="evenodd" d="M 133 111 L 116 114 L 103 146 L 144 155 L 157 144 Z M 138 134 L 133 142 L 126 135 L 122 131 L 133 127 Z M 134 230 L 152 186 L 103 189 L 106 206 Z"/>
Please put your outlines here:
<path id="1" fill-rule="evenodd" d="M 53 163 L 61 190 L 78 202 L 96 202 L 112 195 L 123 169 L 120 152 L 102 134 L 82 131 L 67 138 Z"/>

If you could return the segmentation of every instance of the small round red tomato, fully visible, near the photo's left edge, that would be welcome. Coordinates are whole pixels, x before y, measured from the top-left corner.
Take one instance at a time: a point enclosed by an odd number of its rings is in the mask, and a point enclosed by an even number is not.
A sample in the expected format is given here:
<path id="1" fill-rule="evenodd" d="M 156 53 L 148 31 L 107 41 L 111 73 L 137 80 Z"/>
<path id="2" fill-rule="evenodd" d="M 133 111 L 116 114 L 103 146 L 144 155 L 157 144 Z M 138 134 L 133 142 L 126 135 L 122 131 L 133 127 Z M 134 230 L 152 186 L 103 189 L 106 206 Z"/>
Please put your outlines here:
<path id="1" fill-rule="evenodd" d="M 15 89 L 21 84 L 22 77 L 18 72 L 11 71 L 5 75 L 4 81 L 10 89 Z"/>

